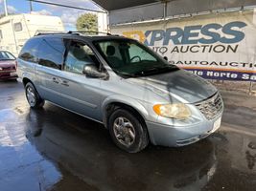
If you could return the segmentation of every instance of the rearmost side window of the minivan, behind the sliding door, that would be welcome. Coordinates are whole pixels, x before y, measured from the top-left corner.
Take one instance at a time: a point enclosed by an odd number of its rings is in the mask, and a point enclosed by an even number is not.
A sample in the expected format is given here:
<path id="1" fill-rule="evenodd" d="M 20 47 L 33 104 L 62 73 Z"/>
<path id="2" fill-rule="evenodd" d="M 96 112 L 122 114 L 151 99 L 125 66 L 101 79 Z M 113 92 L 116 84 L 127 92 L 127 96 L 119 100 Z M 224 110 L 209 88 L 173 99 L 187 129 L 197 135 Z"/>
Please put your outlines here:
<path id="1" fill-rule="evenodd" d="M 19 58 L 29 62 L 37 62 L 37 54 L 38 54 L 38 46 L 41 42 L 40 38 L 32 38 L 25 46 L 22 48 L 21 52 L 19 53 Z"/>

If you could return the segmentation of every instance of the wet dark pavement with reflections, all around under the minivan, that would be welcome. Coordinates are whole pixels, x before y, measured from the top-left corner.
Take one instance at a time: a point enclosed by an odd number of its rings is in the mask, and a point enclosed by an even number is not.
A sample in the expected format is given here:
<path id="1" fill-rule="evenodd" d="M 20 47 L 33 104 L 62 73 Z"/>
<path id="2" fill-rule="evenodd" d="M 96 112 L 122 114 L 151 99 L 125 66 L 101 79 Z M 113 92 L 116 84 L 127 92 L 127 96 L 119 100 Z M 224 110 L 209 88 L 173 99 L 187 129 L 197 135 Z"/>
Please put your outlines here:
<path id="1" fill-rule="evenodd" d="M 0 82 L 0 190 L 256 190 L 256 97 L 223 92 L 221 129 L 182 148 L 127 154 L 105 128 Z"/>

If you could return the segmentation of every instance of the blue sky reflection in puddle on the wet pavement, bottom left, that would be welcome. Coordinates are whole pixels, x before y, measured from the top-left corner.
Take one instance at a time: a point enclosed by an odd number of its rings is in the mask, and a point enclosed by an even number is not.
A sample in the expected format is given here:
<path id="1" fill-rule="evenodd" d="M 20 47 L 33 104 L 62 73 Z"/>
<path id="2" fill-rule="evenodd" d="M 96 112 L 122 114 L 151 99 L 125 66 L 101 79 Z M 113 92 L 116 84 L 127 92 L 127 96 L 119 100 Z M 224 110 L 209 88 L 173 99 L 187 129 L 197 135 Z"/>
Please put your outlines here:
<path id="1" fill-rule="evenodd" d="M 26 138 L 26 121 L 18 118 L 14 110 L 0 111 L 1 190 L 47 190 L 61 174 Z"/>

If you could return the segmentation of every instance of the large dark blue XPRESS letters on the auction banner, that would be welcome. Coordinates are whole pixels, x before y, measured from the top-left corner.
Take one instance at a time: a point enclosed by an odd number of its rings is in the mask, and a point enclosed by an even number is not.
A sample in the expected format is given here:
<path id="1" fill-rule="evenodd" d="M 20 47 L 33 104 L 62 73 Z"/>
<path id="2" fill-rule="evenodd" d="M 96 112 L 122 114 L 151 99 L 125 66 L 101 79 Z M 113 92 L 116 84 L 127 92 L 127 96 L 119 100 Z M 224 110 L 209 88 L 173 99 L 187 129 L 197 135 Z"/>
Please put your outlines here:
<path id="1" fill-rule="evenodd" d="M 224 26 L 212 23 L 205 26 L 187 26 L 184 30 L 181 28 L 169 28 L 166 32 L 163 30 L 147 31 L 145 32 L 146 40 L 144 44 L 147 46 L 155 46 L 155 42 L 159 41 L 163 42 L 163 46 L 170 45 L 170 41 L 173 41 L 174 45 L 198 43 L 214 44 L 218 42 L 224 44 L 238 43 L 244 39 L 244 32 L 239 30 L 243 29 L 245 26 L 247 25 L 244 22 L 236 21 L 227 23 Z M 199 38 L 200 33 L 204 35 L 204 37 Z"/>

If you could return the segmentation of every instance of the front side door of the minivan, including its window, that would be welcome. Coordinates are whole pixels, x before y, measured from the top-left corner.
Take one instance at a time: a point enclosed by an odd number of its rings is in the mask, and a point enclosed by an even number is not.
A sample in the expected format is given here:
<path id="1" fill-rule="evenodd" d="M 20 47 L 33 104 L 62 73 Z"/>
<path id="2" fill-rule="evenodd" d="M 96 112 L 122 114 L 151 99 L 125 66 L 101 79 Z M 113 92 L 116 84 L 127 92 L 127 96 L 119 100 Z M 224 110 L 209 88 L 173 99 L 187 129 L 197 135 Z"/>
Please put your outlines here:
<path id="1" fill-rule="evenodd" d="M 66 108 L 86 117 L 97 120 L 101 118 L 101 80 L 88 78 L 82 74 L 86 64 L 100 66 L 93 51 L 85 43 L 70 40 L 68 43 L 61 76 L 58 77 L 61 89 L 59 93 L 65 98 Z"/>

